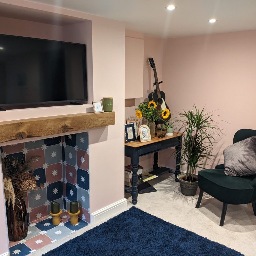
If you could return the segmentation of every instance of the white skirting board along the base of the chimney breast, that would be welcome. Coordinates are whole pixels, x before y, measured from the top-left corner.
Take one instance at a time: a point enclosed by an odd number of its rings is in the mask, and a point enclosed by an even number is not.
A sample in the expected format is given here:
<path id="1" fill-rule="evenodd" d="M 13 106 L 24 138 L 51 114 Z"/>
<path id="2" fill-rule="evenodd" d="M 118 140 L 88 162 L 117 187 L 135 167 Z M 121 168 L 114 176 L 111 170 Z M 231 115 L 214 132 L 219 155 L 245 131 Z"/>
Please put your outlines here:
<path id="1" fill-rule="evenodd" d="M 108 205 L 96 212 L 91 213 L 91 224 L 103 221 L 104 219 L 109 218 L 119 211 L 125 210 L 126 208 L 127 200 L 125 198 L 111 205 Z"/>

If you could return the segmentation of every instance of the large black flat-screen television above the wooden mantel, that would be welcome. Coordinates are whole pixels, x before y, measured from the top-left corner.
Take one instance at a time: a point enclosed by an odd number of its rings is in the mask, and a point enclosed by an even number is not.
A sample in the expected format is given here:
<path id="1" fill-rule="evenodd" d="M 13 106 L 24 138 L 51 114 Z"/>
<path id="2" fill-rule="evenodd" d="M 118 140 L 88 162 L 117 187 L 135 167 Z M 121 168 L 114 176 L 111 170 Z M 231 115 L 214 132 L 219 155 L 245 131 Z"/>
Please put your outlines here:
<path id="1" fill-rule="evenodd" d="M 87 101 L 84 44 L 0 35 L 0 106 Z"/>

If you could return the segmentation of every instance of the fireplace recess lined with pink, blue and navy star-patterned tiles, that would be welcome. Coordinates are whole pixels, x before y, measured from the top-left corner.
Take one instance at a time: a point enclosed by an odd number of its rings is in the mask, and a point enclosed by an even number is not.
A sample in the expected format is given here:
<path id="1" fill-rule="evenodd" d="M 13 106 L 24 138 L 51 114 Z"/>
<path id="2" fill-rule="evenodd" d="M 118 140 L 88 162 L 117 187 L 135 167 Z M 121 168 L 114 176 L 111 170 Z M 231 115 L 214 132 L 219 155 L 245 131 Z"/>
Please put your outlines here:
<path id="1" fill-rule="evenodd" d="M 39 139 L 0 147 L 2 165 L 6 159 L 39 156 L 33 162 L 37 188 L 23 193 L 28 233 L 21 241 L 10 241 L 10 255 L 27 255 L 85 227 L 90 222 L 88 132 Z M 71 225 L 68 210 L 78 201 L 79 221 Z M 60 204 L 60 224 L 52 224 L 51 202 Z"/>

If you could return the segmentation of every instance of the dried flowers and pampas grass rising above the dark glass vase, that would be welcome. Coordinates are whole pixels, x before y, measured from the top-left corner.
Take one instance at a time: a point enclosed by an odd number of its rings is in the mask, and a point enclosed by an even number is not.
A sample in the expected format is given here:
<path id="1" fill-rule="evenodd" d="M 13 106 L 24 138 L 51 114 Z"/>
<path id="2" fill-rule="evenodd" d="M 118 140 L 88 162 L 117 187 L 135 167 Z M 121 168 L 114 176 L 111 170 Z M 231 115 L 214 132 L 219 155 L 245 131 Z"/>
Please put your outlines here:
<path id="1" fill-rule="evenodd" d="M 36 179 L 33 175 L 33 163 L 38 161 L 40 156 L 31 156 L 24 161 L 18 158 L 5 157 L 2 160 L 4 176 L 4 195 L 5 201 L 12 207 L 15 206 L 15 197 L 22 192 L 36 189 Z"/>

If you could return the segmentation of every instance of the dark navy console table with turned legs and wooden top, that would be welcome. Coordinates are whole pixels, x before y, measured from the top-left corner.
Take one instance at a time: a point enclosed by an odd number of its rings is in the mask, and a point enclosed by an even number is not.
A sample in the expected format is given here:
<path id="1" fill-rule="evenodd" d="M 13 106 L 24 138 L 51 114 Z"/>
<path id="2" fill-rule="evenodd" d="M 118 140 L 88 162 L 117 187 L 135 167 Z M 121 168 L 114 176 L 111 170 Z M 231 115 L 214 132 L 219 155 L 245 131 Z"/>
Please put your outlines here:
<path id="1" fill-rule="evenodd" d="M 178 182 L 177 175 L 180 174 L 180 156 L 181 156 L 181 146 L 182 146 L 182 134 L 175 133 L 174 136 L 165 136 L 164 138 L 158 138 L 156 135 L 155 138 L 152 138 L 151 141 L 139 142 L 134 141 L 130 143 L 125 143 L 124 146 L 124 155 L 131 158 L 132 164 L 132 203 L 137 204 L 138 198 L 138 164 L 140 156 L 145 156 L 148 154 L 154 153 L 154 165 L 153 169 L 158 169 L 157 159 L 158 151 L 175 147 L 177 150 L 176 153 L 176 170 L 175 170 L 175 181 Z M 165 168 L 165 167 L 163 167 Z M 167 168 L 166 168 L 167 169 Z M 166 171 L 167 172 L 167 171 Z"/>

